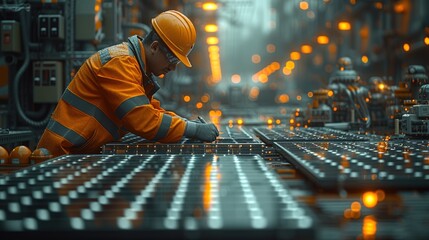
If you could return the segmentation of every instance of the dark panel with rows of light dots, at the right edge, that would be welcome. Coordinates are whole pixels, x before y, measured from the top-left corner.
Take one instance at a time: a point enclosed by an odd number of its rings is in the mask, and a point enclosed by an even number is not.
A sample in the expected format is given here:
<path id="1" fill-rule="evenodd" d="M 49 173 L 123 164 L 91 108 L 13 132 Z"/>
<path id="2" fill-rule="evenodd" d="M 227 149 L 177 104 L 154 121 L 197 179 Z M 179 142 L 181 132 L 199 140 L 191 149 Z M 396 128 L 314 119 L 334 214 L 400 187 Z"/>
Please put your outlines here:
<path id="1" fill-rule="evenodd" d="M 274 145 L 323 189 L 429 188 L 427 159 L 415 154 L 429 151 L 426 141 L 276 142 Z"/>

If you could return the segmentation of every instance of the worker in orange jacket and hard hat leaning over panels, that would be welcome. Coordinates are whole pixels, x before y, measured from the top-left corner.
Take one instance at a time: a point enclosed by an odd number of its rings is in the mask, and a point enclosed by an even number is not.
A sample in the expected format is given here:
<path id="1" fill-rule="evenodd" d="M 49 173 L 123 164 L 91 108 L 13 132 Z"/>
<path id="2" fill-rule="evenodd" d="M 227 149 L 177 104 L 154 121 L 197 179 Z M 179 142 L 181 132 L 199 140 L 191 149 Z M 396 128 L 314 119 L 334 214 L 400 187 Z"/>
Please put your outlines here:
<path id="1" fill-rule="evenodd" d="M 89 57 L 76 73 L 52 113 L 38 148 L 53 156 L 97 154 L 108 142 L 131 132 L 161 143 L 219 136 L 213 123 L 180 117 L 161 107 L 155 76 L 192 67 L 188 55 L 196 31 L 182 13 L 168 10 L 152 19 L 144 38 L 134 35 Z"/>

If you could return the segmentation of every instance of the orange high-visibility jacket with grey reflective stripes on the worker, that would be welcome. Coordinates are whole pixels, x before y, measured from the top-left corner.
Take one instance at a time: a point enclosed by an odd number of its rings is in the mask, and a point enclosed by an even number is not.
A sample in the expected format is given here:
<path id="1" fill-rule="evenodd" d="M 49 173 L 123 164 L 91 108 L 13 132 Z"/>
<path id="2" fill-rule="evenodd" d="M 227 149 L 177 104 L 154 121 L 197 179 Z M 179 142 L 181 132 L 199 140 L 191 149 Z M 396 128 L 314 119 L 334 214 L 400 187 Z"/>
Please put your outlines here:
<path id="1" fill-rule="evenodd" d="M 38 148 L 54 156 L 88 154 L 100 153 L 102 145 L 127 132 L 159 142 L 183 137 L 186 120 L 162 109 L 153 98 L 152 86 L 146 84 L 153 79 L 146 74 L 143 43 L 137 36 L 130 39 L 134 41 L 102 49 L 84 62 L 59 100 Z"/>

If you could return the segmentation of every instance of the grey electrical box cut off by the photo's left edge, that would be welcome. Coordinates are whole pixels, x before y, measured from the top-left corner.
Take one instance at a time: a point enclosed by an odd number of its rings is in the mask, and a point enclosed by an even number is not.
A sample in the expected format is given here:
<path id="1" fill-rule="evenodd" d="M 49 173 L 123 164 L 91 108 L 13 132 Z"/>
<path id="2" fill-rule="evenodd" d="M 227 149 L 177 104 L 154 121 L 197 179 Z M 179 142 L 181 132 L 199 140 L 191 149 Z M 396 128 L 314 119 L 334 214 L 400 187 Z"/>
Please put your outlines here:
<path id="1" fill-rule="evenodd" d="M 1 21 L 1 51 L 21 52 L 21 27 L 15 20 Z"/>

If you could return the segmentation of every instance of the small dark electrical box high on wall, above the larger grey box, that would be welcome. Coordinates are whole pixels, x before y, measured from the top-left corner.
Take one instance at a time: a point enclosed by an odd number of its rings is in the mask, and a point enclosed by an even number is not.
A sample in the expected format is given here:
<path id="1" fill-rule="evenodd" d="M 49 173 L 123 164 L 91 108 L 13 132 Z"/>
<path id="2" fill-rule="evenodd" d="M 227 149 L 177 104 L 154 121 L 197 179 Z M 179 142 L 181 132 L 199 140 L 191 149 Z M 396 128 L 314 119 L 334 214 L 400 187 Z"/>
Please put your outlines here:
<path id="1" fill-rule="evenodd" d="M 64 17 L 58 14 L 39 15 L 40 39 L 64 39 Z"/>

